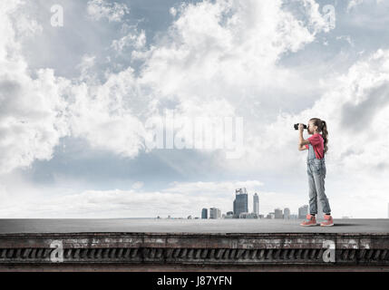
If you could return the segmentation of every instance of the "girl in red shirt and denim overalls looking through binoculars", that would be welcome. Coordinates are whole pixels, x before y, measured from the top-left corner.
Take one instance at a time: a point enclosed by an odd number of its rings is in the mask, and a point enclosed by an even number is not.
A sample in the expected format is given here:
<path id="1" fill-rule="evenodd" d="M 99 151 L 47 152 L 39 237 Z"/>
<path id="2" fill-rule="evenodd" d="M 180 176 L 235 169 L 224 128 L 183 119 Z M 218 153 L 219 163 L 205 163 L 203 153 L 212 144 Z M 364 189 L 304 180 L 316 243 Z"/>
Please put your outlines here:
<path id="1" fill-rule="evenodd" d="M 308 150 L 306 157 L 306 171 L 308 173 L 309 184 L 309 214 L 306 215 L 306 220 L 300 225 L 304 227 L 316 226 L 317 214 L 317 198 L 322 205 L 325 213 L 324 222 L 320 224 L 322 227 L 334 226 L 334 220 L 331 217 L 331 208 L 329 207 L 328 199 L 325 192 L 326 179 L 326 160 L 325 153 L 328 150 L 328 131 L 326 129 L 326 121 L 318 118 L 312 118 L 308 121 L 306 130 L 312 135 L 307 140 L 303 138 L 303 124 L 299 124 L 299 148 L 298 150 Z M 322 132 L 322 134 L 320 134 Z"/>

